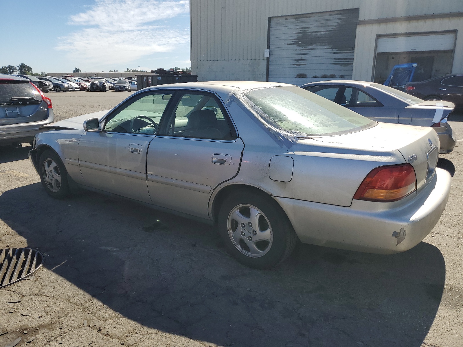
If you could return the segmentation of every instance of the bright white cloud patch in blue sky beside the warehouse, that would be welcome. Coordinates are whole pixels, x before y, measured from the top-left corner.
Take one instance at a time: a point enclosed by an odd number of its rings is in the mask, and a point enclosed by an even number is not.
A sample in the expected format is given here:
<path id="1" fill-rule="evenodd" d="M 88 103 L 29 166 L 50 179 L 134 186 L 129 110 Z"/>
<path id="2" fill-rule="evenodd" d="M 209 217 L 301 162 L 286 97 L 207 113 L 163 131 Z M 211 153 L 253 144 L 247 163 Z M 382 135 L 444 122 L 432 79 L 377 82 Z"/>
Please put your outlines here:
<path id="1" fill-rule="evenodd" d="M 69 18 L 84 28 L 59 37 L 57 50 L 69 59 L 105 65 L 130 62 L 156 52 L 169 52 L 189 40 L 188 28 L 159 23 L 188 13 L 188 0 L 96 0 L 88 11 Z M 158 21 L 156 23 L 156 21 Z"/>

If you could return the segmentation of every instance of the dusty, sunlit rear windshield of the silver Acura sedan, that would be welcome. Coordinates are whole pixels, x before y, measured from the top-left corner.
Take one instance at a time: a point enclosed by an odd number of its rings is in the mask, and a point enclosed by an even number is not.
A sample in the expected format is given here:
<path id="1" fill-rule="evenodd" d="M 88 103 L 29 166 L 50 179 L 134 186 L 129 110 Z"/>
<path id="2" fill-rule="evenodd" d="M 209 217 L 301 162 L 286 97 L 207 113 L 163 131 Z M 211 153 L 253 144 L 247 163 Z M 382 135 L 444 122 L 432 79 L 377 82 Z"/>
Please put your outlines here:
<path id="1" fill-rule="evenodd" d="M 300 87 L 270 87 L 244 95 L 252 108 L 268 116 L 264 119 L 268 124 L 294 136 L 341 135 L 377 124 Z"/>

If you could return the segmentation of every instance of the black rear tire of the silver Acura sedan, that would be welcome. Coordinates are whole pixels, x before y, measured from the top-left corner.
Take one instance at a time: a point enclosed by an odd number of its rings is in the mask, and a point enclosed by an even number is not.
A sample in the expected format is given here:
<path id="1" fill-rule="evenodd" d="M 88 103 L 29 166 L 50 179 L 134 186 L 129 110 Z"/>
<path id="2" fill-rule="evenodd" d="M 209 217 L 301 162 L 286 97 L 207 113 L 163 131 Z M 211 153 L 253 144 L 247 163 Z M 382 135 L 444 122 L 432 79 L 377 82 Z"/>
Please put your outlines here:
<path id="1" fill-rule="evenodd" d="M 232 218 L 232 212 L 237 209 L 242 215 L 245 215 L 246 211 L 251 213 L 250 209 L 246 207 L 247 205 L 255 207 L 257 210 L 260 210 L 259 212 L 262 212 L 262 216 L 257 217 L 257 220 L 260 221 L 257 222 L 257 224 L 259 224 L 257 228 L 255 225 L 248 227 L 248 224 L 240 224 Z M 250 220 L 252 220 L 252 218 Z M 261 228 L 261 223 L 266 226 Z M 245 227 L 243 228 L 242 225 Z M 219 234 L 228 252 L 240 263 L 256 269 L 268 269 L 280 264 L 283 260 L 288 258 L 294 250 L 294 246 L 298 240 L 293 226 L 281 206 L 271 197 L 253 190 L 239 189 L 225 198 L 219 210 L 218 227 Z M 252 256 L 252 251 L 247 244 L 251 245 L 253 243 L 252 237 L 258 237 L 253 236 L 257 235 L 255 229 L 260 230 L 265 228 L 267 228 L 272 235 L 271 242 L 254 241 L 257 252 L 261 251 L 262 248 L 262 255 L 257 254 Z M 232 231 L 233 229 L 235 229 L 234 232 Z M 238 232 L 240 234 L 234 234 Z M 245 236 L 244 238 L 241 236 L 243 234 Z M 232 241 L 232 235 L 235 235 L 239 240 L 238 244 Z M 248 242 L 245 239 L 251 240 Z M 260 246 L 257 245 L 258 242 L 261 243 Z M 265 246 L 266 244 L 267 246 Z M 254 250 L 256 251 L 256 248 L 254 248 Z"/>

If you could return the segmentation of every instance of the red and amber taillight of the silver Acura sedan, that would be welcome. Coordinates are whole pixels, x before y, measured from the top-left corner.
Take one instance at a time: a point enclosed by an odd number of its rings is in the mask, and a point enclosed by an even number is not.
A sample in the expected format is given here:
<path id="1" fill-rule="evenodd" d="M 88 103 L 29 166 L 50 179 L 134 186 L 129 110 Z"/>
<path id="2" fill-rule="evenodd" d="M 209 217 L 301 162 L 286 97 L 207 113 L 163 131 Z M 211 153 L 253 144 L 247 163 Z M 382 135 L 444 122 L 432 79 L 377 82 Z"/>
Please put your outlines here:
<path id="1" fill-rule="evenodd" d="M 416 190 L 411 164 L 380 166 L 371 170 L 355 192 L 354 199 L 389 202 L 405 198 Z"/>

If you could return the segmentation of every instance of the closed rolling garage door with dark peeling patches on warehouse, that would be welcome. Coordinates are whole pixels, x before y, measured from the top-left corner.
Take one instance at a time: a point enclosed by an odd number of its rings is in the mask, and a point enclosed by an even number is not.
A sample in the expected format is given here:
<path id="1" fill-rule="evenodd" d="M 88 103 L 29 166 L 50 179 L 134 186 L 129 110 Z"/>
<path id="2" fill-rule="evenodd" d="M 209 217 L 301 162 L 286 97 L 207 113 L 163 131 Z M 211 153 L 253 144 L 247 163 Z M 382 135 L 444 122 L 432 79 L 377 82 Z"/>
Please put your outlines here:
<path id="1" fill-rule="evenodd" d="M 269 81 L 352 79 L 358 8 L 270 19 Z"/>

